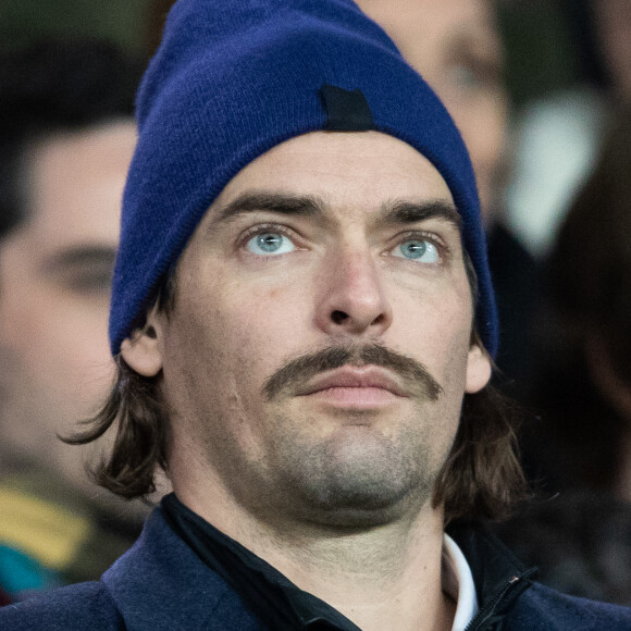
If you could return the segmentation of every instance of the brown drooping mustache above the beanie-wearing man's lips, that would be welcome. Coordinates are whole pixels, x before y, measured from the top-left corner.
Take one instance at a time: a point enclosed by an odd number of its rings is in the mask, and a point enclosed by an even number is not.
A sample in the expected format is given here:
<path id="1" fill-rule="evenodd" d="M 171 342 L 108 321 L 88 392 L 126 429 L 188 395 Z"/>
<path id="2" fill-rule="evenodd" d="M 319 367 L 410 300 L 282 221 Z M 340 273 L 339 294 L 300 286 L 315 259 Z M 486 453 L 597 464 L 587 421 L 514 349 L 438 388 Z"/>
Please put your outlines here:
<path id="1" fill-rule="evenodd" d="M 287 361 L 263 384 L 263 396 L 273 400 L 283 391 L 309 381 L 320 372 L 343 366 L 379 366 L 404 379 L 410 394 L 437 400 L 443 388 L 429 370 L 416 359 L 391 350 L 381 344 L 333 346 Z"/>

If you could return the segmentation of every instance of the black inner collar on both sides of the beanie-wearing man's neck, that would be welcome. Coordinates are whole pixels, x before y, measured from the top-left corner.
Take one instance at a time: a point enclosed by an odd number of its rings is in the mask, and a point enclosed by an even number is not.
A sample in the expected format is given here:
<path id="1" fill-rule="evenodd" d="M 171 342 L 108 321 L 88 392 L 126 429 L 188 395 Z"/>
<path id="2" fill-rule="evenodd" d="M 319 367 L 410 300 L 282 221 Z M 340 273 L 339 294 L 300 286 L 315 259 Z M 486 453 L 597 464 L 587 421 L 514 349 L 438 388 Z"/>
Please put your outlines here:
<path id="1" fill-rule="evenodd" d="M 359 631 L 339 611 L 300 590 L 267 561 L 184 506 L 174 494 L 162 500 L 162 508 L 177 535 L 239 594 L 265 628 Z M 465 554 L 478 594 L 479 611 L 468 629 L 494 629 L 530 585 L 533 572 L 480 525 L 454 523 L 447 533 Z"/>

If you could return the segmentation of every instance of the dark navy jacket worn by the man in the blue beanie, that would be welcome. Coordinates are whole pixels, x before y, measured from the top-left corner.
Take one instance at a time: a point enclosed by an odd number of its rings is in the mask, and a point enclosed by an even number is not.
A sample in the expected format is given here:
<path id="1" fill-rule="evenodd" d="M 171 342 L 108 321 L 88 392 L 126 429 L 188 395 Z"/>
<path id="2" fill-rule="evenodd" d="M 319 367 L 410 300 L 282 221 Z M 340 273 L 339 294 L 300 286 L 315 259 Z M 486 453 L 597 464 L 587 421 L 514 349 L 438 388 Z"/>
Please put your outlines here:
<path id="1" fill-rule="evenodd" d="M 471 565 L 481 611 L 472 629 L 630 631 L 631 609 L 564 596 L 531 582 L 493 537 L 449 531 Z M 98 582 L 79 583 L 0 608 L 2 631 L 253 631 L 237 594 L 182 541 L 161 509 Z"/>

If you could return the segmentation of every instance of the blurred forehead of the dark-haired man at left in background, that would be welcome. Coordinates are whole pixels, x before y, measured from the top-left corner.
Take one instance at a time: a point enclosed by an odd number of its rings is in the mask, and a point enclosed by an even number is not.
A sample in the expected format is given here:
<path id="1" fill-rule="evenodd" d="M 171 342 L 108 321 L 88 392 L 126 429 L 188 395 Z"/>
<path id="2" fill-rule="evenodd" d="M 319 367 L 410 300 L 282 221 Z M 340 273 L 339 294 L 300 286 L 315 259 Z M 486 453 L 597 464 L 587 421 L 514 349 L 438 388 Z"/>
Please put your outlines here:
<path id="1" fill-rule="evenodd" d="M 53 135 L 26 157 L 24 230 L 53 249 L 119 236 L 121 198 L 136 143 L 132 122 Z"/>

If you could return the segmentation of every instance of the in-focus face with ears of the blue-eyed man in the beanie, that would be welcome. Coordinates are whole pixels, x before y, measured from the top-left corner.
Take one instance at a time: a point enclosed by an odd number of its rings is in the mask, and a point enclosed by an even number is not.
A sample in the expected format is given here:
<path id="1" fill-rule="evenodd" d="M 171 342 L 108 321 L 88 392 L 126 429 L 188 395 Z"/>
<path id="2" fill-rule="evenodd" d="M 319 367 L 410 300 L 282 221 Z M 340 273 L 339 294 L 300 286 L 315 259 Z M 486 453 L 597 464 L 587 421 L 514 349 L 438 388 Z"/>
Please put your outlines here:
<path id="1" fill-rule="evenodd" d="M 345 524 L 426 505 L 490 374 L 458 221 L 430 162 L 375 132 L 294 138 L 230 182 L 174 310 L 123 347 L 162 370 L 184 500 Z"/>

